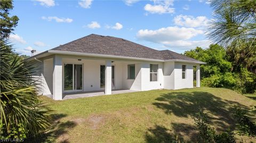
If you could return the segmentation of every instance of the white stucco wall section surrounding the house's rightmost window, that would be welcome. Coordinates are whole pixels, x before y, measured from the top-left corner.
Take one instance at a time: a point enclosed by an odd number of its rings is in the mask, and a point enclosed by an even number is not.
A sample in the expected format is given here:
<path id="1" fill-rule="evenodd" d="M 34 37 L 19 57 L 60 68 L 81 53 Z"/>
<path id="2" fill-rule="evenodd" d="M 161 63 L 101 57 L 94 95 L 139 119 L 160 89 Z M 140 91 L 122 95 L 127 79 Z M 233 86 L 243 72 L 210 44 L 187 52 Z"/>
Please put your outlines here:
<path id="1" fill-rule="evenodd" d="M 186 79 L 182 79 L 182 65 L 187 65 Z M 174 89 L 193 88 L 193 64 L 174 63 Z"/>

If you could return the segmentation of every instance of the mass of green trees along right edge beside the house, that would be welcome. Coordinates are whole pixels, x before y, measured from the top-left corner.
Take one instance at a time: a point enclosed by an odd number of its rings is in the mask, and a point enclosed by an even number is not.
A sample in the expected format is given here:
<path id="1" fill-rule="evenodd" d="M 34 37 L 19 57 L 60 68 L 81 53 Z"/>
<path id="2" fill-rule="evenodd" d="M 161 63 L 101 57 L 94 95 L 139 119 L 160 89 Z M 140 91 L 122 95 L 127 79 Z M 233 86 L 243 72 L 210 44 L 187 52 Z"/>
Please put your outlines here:
<path id="1" fill-rule="evenodd" d="M 202 83 L 242 93 L 256 90 L 256 1 L 212 0 L 214 19 L 207 36 L 215 43 L 184 54 L 206 62 Z"/>

